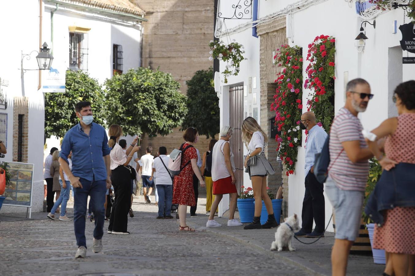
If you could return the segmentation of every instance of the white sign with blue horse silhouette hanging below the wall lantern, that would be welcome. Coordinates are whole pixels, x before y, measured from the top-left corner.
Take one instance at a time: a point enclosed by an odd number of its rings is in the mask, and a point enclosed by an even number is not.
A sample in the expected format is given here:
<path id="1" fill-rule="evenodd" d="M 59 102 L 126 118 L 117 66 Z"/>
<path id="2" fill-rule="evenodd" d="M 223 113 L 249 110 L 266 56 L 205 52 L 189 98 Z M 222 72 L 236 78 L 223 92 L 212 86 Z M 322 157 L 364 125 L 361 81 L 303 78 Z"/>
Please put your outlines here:
<path id="1" fill-rule="evenodd" d="M 65 93 L 65 64 L 54 61 L 49 71 L 42 73 L 42 88 L 44 93 Z"/>

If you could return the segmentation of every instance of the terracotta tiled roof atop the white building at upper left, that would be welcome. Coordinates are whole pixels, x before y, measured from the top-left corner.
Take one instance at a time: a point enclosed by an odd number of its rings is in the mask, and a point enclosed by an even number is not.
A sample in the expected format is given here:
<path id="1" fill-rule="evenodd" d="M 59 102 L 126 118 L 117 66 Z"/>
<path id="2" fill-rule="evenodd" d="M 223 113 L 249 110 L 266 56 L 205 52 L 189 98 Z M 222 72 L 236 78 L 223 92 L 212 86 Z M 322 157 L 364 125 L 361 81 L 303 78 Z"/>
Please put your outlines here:
<path id="1" fill-rule="evenodd" d="M 81 3 L 91 7 L 99 7 L 105 10 L 125 12 L 142 16 L 146 12 L 129 0 L 65 0 L 65 2 Z"/>

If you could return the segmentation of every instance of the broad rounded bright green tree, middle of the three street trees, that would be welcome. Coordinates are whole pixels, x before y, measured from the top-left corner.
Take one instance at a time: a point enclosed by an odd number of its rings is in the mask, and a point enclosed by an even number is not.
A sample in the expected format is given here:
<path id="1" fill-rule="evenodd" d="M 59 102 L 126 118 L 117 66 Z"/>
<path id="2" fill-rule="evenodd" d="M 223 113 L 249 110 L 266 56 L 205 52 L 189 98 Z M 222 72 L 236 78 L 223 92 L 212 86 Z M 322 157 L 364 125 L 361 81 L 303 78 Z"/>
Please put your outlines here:
<path id="1" fill-rule="evenodd" d="M 167 135 L 187 113 L 186 96 L 171 74 L 149 68 L 130 69 L 105 81 L 107 123 L 125 134 Z"/>

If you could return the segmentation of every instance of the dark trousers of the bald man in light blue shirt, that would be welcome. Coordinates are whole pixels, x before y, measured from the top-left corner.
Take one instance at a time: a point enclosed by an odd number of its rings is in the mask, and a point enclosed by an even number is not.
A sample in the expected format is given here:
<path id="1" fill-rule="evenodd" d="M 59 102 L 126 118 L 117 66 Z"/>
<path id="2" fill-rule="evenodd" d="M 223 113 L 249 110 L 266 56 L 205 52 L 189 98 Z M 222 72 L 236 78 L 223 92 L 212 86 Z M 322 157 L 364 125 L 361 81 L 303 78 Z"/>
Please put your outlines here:
<path id="1" fill-rule="evenodd" d="M 305 195 L 303 200 L 302 230 L 311 233 L 312 222 L 315 221 L 315 232 L 324 232 L 325 210 L 324 210 L 324 186 L 318 182 L 314 174 L 308 172 L 305 176 Z"/>

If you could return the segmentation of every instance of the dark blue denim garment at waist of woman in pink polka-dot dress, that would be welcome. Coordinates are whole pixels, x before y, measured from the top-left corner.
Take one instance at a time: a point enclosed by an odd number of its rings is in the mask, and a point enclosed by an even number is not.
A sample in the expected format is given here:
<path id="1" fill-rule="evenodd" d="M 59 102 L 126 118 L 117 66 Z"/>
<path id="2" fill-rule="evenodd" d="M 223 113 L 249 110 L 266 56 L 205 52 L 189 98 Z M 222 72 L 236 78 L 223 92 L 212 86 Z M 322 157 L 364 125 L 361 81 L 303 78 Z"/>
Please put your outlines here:
<path id="1" fill-rule="evenodd" d="M 397 206 L 415 207 L 415 164 L 399 163 L 389 171 L 383 170 L 364 212 L 381 226 L 382 211 Z"/>

